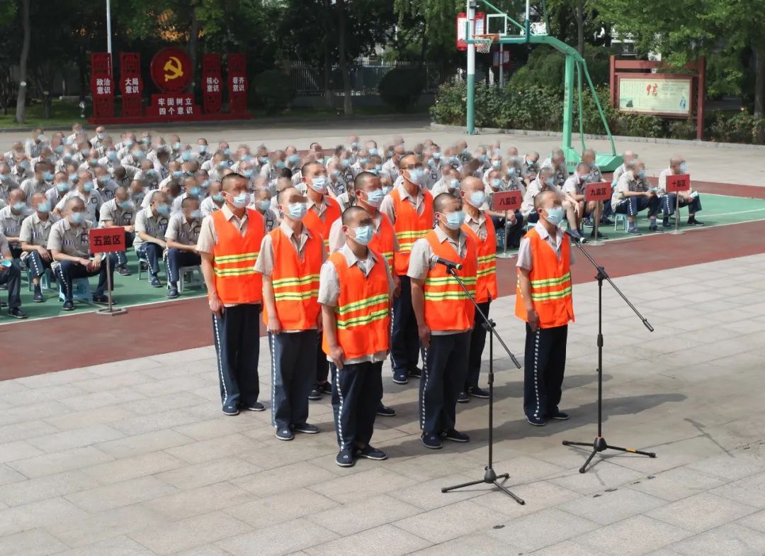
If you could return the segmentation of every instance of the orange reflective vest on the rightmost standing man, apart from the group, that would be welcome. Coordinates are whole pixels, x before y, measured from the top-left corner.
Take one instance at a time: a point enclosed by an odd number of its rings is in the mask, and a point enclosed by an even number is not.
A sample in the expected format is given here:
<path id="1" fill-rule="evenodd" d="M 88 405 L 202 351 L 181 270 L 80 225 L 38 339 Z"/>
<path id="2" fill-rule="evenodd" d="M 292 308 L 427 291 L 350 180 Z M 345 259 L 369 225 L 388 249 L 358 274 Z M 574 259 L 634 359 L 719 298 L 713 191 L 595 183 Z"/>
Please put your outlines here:
<path id="1" fill-rule="evenodd" d="M 555 326 L 567 325 L 574 320 L 574 303 L 571 299 L 571 247 L 568 236 L 563 236 L 561 258 L 555 250 L 539 237 L 532 228 L 526 234 L 531 242 L 532 270 L 529 273 L 531 281 L 531 300 L 534 310 L 539 314 L 539 328 L 550 329 Z M 516 289 L 516 316 L 526 320 L 526 304 L 519 279 Z"/>

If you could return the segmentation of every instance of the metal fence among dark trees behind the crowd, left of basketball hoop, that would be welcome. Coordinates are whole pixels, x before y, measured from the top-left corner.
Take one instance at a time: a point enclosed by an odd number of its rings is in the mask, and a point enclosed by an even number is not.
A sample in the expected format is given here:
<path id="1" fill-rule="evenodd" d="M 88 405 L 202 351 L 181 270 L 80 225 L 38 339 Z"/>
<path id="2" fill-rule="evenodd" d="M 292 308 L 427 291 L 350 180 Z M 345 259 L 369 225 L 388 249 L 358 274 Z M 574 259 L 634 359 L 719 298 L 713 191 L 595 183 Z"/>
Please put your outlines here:
<path id="1" fill-rule="evenodd" d="M 444 80 L 441 69 L 435 64 L 417 64 L 414 62 L 363 62 L 350 66 L 350 90 L 352 96 L 376 95 L 377 86 L 382 77 L 394 67 L 418 67 L 425 75 L 423 93 L 435 93 Z M 291 62 L 289 67 L 292 83 L 298 96 L 324 95 L 324 67 L 314 67 L 305 62 Z M 330 90 L 334 94 L 343 93 L 343 74 L 340 67 L 330 70 Z"/>

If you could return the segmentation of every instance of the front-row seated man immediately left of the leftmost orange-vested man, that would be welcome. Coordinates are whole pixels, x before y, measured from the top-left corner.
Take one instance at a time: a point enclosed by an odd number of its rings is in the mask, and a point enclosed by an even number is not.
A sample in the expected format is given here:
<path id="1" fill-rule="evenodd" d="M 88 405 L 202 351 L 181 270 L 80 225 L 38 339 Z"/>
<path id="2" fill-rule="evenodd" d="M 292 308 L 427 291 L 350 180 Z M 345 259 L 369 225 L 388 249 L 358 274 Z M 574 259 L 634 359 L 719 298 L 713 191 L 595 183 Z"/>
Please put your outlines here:
<path id="1" fill-rule="evenodd" d="M 178 296 L 181 267 L 198 267 L 202 259 L 197 253 L 197 239 L 202 224 L 199 199 L 187 197 L 181 201 L 181 214 L 170 217 L 164 240 L 167 242 L 168 297 Z"/>

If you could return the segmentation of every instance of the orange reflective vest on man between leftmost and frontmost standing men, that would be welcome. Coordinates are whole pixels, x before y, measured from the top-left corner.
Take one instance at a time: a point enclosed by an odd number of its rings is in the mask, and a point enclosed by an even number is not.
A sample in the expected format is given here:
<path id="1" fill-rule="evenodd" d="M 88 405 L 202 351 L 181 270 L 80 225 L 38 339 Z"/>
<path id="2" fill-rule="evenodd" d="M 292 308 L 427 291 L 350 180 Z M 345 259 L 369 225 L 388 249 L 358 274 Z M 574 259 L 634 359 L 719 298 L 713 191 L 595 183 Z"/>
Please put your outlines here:
<path id="1" fill-rule="evenodd" d="M 319 273 L 321 272 L 321 235 L 308 229 L 303 260 L 290 239 L 280 229 L 270 233 L 274 247 L 274 270 L 271 283 L 276 301 L 276 316 L 283 330 L 310 330 L 319 316 Z M 263 322 L 268 312 L 263 307 Z"/>

